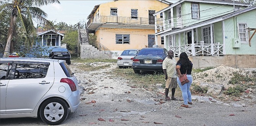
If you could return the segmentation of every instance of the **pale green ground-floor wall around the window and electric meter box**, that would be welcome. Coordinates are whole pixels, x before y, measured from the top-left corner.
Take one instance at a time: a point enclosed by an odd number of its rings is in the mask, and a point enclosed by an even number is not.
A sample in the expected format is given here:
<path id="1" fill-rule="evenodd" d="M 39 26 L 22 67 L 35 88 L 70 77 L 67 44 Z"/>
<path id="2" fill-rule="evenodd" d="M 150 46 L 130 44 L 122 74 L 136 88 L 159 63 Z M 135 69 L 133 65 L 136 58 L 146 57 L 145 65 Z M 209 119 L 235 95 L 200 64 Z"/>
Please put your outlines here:
<path id="1" fill-rule="evenodd" d="M 256 10 L 242 13 L 237 16 L 224 20 L 225 33 L 225 50 L 227 55 L 256 55 L 256 35 L 251 39 L 251 46 L 249 43 L 241 43 L 240 48 L 233 48 L 232 39 L 238 38 L 237 25 L 238 23 L 247 23 L 247 27 L 256 28 Z M 254 31 L 251 32 L 251 35 Z M 249 40 L 249 38 L 247 38 Z"/>

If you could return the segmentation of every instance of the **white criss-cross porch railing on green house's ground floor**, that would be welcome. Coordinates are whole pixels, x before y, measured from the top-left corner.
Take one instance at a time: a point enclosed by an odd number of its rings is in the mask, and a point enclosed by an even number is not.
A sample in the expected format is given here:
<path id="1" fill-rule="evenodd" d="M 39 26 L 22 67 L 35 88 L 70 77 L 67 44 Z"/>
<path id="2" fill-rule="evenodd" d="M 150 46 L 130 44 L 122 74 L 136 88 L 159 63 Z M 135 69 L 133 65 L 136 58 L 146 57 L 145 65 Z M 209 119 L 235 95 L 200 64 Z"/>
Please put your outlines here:
<path id="1" fill-rule="evenodd" d="M 220 43 L 214 43 L 214 44 L 194 43 L 193 49 L 191 45 L 192 44 L 173 46 L 173 47 L 170 47 L 170 50 L 173 50 L 174 56 L 179 56 L 181 52 L 186 52 L 188 56 L 224 55 L 223 44 L 220 44 Z M 192 53 L 192 52 L 195 52 L 195 53 Z"/>

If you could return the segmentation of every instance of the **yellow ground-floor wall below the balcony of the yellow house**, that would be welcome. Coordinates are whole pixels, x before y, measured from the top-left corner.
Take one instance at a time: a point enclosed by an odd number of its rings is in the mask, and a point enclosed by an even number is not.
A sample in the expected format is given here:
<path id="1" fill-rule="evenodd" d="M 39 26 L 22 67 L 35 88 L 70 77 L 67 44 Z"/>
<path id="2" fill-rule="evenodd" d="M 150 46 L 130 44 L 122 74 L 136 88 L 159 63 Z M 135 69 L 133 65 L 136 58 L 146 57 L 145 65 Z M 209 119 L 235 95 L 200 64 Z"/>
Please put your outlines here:
<path id="1" fill-rule="evenodd" d="M 115 34 L 130 34 L 130 44 L 116 44 Z M 154 35 L 154 30 L 100 28 L 96 31 L 95 35 L 97 35 L 97 41 L 110 50 L 142 49 L 148 46 L 147 35 Z M 158 37 L 158 41 L 161 41 L 160 36 Z"/>

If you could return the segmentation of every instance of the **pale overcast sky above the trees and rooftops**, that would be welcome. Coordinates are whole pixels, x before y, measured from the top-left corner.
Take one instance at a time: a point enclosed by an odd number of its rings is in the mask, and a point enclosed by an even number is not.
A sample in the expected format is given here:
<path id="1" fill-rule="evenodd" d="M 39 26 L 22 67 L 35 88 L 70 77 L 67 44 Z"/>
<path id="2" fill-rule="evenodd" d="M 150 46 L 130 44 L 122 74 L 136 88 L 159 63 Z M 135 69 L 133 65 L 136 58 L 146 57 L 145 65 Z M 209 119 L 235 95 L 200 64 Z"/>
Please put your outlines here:
<path id="1" fill-rule="evenodd" d="M 111 2 L 113 0 L 59 0 L 60 4 L 51 4 L 42 6 L 41 9 L 47 13 L 47 20 L 65 22 L 68 25 L 77 24 L 80 21 L 86 21 L 95 5 Z M 167 0 L 171 3 L 177 2 Z"/>

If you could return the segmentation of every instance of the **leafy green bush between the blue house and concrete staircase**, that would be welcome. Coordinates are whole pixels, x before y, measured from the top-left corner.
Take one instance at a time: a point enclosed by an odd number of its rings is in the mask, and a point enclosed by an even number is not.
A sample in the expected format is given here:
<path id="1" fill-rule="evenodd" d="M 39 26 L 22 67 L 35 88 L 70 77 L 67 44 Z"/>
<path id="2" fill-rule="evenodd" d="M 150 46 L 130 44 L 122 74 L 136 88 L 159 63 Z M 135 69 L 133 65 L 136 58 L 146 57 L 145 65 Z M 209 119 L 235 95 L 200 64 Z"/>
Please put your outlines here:
<path id="1" fill-rule="evenodd" d="M 65 37 L 62 39 L 62 44 L 66 44 L 68 50 L 75 50 L 78 44 L 78 32 L 77 30 L 68 30 L 65 33 Z"/>

